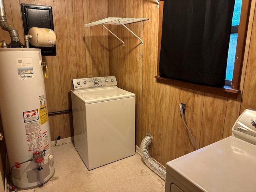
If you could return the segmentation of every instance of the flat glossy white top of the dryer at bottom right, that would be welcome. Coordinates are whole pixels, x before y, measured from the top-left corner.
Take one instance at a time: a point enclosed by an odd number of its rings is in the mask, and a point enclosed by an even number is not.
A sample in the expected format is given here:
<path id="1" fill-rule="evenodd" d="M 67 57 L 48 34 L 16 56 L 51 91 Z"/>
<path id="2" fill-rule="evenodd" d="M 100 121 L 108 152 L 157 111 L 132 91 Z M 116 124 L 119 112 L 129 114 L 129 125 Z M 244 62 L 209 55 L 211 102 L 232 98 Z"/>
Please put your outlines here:
<path id="1" fill-rule="evenodd" d="M 174 159 L 166 171 L 191 191 L 255 191 L 256 146 L 233 136 Z"/>

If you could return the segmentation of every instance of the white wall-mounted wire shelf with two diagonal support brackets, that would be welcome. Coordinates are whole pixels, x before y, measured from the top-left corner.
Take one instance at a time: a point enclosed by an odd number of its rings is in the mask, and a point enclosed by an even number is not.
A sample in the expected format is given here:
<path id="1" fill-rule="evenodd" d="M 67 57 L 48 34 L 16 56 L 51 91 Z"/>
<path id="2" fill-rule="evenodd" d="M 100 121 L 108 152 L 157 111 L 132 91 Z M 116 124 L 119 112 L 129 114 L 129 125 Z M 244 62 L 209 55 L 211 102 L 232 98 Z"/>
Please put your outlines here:
<path id="1" fill-rule="evenodd" d="M 125 24 L 129 24 L 129 23 L 135 23 L 135 22 L 140 22 L 140 21 L 146 21 L 148 20 L 148 18 L 125 18 L 125 17 L 108 17 L 102 20 L 98 20 L 92 23 L 88 23 L 85 24 L 85 27 L 92 27 L 92 26 L 96 26 L 96 25 L 102 25 L 104 28 L 106 28 L 105 25 L 122 25 L 124 26 L 126 29 L 128 29 L 134 36 L 136 36 L 143 45 L 143 40 L 141 38 L 139 38 L 134 32 L 132 32 L 128 27 L 125 26 Z M 114 35 L 116 38 L 118 38 L 118 40 L 120 40 L 123 45 L 124 45 L 124 41 L 122 41 L 118 36 L 116 36 L 112 31 L 110 31 L 108 28 L 106 28 L 106 30 L 108 30 L 112 35 Z"/>

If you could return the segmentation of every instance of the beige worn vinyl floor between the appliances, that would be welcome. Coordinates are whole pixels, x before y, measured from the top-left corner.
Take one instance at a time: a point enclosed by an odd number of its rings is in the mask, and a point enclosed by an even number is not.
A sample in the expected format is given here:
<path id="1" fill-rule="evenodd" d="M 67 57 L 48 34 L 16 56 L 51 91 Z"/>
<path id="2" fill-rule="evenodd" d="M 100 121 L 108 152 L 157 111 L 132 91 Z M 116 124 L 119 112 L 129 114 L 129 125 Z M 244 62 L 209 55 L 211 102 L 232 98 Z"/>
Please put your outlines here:
<path id="1" fill-rule="evenodd" d="M 54 176 L 43 186 L 20 192 L 164 192 L 165 182 L 141 156 L 88 171 L 72 142 L 54 146 Z"/>

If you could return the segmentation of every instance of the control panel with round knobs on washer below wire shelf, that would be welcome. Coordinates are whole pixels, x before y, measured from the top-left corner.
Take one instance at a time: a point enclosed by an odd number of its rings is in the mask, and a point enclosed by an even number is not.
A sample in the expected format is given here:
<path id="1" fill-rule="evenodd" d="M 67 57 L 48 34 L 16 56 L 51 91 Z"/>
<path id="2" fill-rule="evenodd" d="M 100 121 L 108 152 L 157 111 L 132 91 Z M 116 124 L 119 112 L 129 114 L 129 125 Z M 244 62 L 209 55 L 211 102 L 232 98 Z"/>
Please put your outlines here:
<path id="1" fill-rule="evenodd" d="M 73 90 L 99 88 L 99 87 L 106 87 L 106 86 L 117 86 L 116 77 L 107 76 L 107 77 L 90 77 L 90 78 L 72 79 Z"/>

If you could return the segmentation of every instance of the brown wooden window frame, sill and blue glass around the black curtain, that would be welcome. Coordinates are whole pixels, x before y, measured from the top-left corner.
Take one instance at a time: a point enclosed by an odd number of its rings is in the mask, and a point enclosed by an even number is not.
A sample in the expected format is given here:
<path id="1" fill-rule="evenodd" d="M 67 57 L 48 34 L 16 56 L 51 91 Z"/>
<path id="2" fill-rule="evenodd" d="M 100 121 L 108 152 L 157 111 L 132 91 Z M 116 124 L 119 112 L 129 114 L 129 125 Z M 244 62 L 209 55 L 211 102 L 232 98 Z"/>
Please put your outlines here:
<path id="1" fill-rule="evenodd" d="M 159 37 L 158 37 L 158 72 L 156 77 L 156 81 L 164 84 L 170 84 L 173 86 L 180 86 L 184 88 L 189 88 L 192 90 L 198 90 L 202 92 L 207 92 L 211 94 L 216 94 L 220 96 L 226 96 L 229 98 L 236 98 L 237 94 L 240 92 L 240 78 L 242 72 L 242 62 L 244 58 L 244 50 L 245 50 L 245 43 L 246 43 L 246 35 L 248 30 L 248 21 L 250 15 L 250 6 L 251 0 L 236 0 L 235 3 L 235 14 L 234 14 L 234 27 L 232 30 L 232 34 L 230 37 L 230 58 L 232 58 L 233 63 L 231 64 L 231 68 L 234 68 L 233 75 L 228 74 L 228 80 L 232 80 L 231 89 L 228 87 L 224 88 L 211 88 L 207 86 L 200 86 L 196 84 L 189 84 L 186 82 L 180 82 L 177 80 L 172 80 L 168 78 L 162 78 L 159 76 L 159 58 L 160 58 L 160 47 L 161 47 L 161 36 L 162 36 L 162 14 L 163 14 L 163 6 L 164 1 L 160 0 L 160 10 L 159 10 Z M 238 11 L 237 11 L 238 10 Z M 240 10 L 240 12 L 239 12 Z M 240 18 L 240 19 L 239 19 Z M 238 25 L 239 24 L 239 28 Z M 232 24 L 233 25 L 233 24 Z M 233 54 L 232 54 L 233 52 Z M 230 59 L 229 58 L 229 59 Z M 230 60 L 230 61 L 232 61 Z M 230 64 L 228 66 L 228 70 L 230 69 Z"/>

